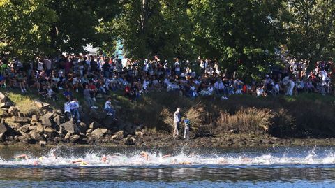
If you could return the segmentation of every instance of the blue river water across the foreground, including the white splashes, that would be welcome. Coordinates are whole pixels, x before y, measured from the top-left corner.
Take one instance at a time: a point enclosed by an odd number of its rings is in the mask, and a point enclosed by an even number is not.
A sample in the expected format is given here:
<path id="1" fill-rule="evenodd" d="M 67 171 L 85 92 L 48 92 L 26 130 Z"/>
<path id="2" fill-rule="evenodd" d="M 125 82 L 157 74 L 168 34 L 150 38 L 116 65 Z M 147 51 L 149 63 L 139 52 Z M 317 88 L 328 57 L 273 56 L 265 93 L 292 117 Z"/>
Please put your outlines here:
<path id="1" fill-rule="evenodd" d="M 335 187 L 335 147 L 0 147 L 0 187 Z"/>

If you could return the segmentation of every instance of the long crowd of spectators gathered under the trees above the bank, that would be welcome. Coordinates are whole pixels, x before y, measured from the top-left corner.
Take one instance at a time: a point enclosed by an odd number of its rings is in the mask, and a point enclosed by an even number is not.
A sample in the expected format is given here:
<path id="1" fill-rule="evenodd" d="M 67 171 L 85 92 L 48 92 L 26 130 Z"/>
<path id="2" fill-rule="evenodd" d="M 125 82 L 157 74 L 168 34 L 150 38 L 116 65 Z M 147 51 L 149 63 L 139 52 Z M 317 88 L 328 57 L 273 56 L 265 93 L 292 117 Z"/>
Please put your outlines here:
<path id="1" fill-rule="evenodd" d="M 176 92 L 190 98 L 216 95 L 221 99 L 232 94 L 292 96 L 333 92 L 332 62 L 287 58 L 285 64 L 284 68 L 273 68 L 258 81 L 246 82 L 237 73 L 222 71 L 219 62 L 210 59 L 168 62 L 154 57 L 133 61 L 94 55 L 38 57 L 35 62 L 25 63 L 19 59 L 0 59 L 0 86 L 17 87 L 22 92 L 37 89 L 41 96 L 52 100 L 57 100 L 57 93 L 62 92 L 69 102 L 69 111 L 76 108 L 76 104 L 70 105 L 76 100 L 73 92 L 82 93 L 91 108 L 97 108 L 94 106 L 97 96 L 117 90 L 124 91 L 131 101 L 152 91 Z M 114 115 L 114 108 L 107 101 L 105 110 Z M 79 116 L 77 112 L 72 114 Z"/>

